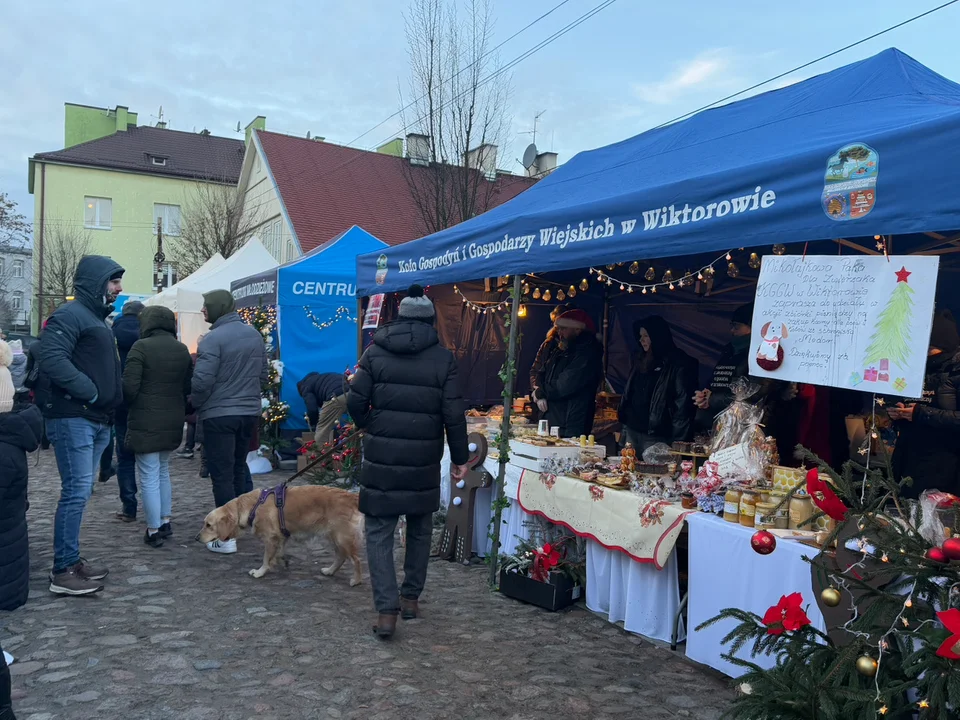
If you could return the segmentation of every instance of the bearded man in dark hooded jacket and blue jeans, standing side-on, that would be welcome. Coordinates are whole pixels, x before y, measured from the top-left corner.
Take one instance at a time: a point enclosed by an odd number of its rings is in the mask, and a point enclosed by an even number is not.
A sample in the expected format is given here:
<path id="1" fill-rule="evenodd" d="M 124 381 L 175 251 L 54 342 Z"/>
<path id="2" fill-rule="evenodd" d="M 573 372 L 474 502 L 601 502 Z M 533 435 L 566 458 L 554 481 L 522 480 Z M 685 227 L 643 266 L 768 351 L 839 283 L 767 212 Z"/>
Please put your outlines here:
<path id="1" fill-rule="evenodd" d="M 99 592 L 108 573 L 80 557 L 80 524 L 123 400 L 117 343 L 106 323 L 122 277 L 123 268 L 108 257 L 82 258 L 73 281 L 76 299 L 56 309 L 40 340 L 40 372 L 50 383 L 41 410 L 61 483 L 50 578 L 50 592 L 58 595 Z"/>

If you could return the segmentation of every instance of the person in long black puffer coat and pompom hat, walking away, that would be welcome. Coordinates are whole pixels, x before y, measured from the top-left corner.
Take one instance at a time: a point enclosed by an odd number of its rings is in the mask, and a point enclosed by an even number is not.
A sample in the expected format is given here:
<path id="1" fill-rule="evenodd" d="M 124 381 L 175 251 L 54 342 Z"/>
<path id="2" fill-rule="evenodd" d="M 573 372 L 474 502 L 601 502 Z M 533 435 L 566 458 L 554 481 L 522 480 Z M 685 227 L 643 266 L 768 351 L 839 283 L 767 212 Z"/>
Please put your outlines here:
<path id="1" fill-rule="evenodd" d="M 374 335 L 360 358 L 347 408 L 365 431 L 360 512 L 366 516 L 367 561 L 379 617 L 374 631 L 389 638 L 397 614 L 415 618 L 430 559 L 433 513 L 440 507 L 443 435 L 453 467 L 467 471 L 467 423 L 453 354 L 440 346 L 433 303 L 419 285 L 400 303 L 399 319 Z M 397 592 L 393 536 L 407 520 L 404 579 Z"/>

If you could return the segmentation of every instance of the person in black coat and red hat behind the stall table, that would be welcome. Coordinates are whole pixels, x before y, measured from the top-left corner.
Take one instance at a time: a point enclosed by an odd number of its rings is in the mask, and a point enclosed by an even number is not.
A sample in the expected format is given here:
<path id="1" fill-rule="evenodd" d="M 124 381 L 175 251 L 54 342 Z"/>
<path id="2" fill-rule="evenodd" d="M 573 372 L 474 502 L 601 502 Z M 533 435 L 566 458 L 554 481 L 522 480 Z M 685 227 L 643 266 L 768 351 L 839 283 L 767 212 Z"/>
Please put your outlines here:
<path id="1" fill-rule="evenodd" d="M 603 377 L 603 347 L 583 310 L 568 310 L 555 324 L 557 349 L 537 373 L 533 399 L 560 437 L 589 435 Z"/>

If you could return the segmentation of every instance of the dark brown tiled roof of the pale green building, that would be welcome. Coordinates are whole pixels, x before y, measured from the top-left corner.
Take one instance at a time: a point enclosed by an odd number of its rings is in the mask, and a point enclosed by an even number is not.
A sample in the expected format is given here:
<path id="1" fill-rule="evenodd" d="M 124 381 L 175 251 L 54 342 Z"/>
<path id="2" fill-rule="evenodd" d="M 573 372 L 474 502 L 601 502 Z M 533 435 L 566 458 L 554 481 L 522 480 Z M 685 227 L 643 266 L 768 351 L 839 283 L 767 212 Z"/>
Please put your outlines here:
<path id="1" fill-rule="evenodd" d="M 236 184 L 243 153 L 243 140 L 144 126 L 34 159 Z M 165 164 L 157 165 L 154 157 L 165 158 Z"/>

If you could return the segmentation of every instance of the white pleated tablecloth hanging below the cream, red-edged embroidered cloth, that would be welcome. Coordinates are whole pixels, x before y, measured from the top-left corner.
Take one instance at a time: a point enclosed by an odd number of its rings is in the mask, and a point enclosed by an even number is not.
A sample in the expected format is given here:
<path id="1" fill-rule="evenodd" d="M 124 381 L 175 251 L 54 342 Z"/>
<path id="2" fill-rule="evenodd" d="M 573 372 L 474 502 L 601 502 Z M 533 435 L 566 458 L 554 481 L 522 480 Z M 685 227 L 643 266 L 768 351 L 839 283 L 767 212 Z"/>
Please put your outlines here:
<path id="1" fill-rule="evenodd" d="M 588 540 L 587 607 L 632 633 L 670 642 L 680 608 L 676 552 L 657 570 Z M 684 637 L 681 621 L 678 639 Z"/>

